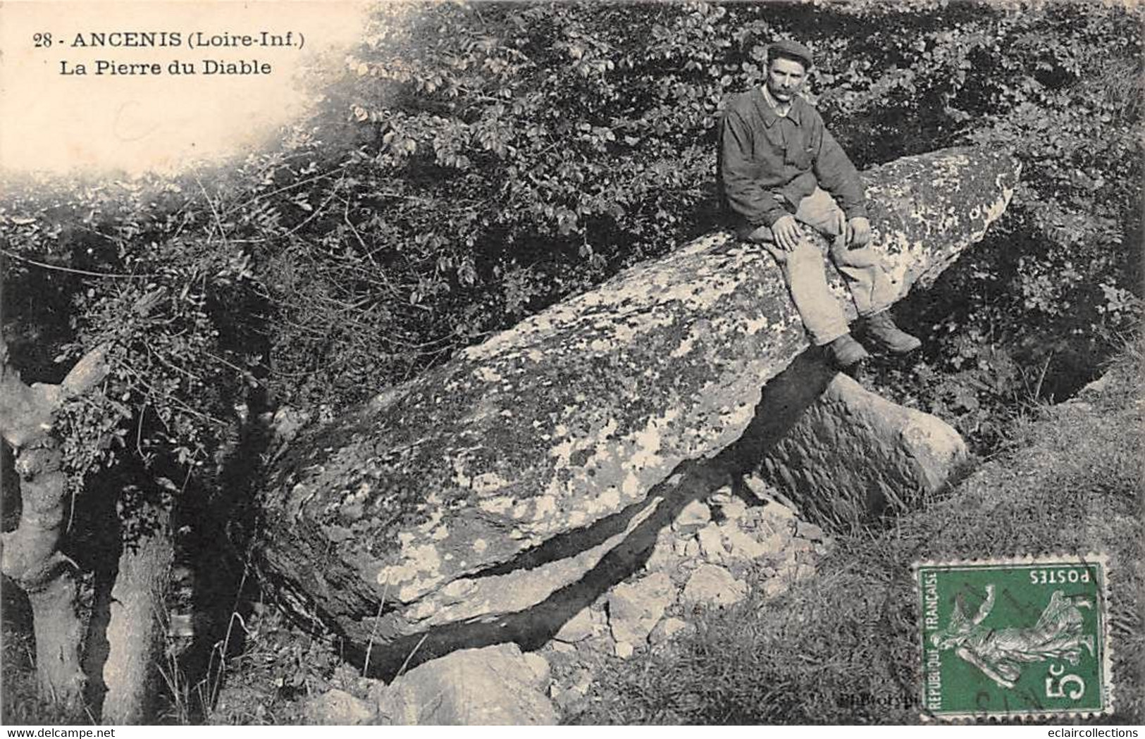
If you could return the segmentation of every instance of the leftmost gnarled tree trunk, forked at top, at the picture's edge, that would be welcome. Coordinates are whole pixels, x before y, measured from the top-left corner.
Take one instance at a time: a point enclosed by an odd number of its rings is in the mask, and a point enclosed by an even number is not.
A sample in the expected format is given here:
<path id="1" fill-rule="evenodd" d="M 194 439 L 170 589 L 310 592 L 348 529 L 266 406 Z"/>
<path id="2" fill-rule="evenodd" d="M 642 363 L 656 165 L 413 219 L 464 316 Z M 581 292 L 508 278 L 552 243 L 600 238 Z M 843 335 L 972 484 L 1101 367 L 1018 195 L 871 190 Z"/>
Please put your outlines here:
<path id="1" fill-rule="evenodd" d="M 27 593 L 32 605 L 40 693 L 68 712 L 78 710 L 84 700 L 84 625 L 76 565 L 60 550 L 68 480 L 50 431 L 60 405 L 105 374 L 103 350 L 96 349 L 58 386 L 29 387 L 8 364 L 0 337 L 0 437 L 11 446 L 21 478 L 19 524 L 0 534 L 0 571 Z"/>

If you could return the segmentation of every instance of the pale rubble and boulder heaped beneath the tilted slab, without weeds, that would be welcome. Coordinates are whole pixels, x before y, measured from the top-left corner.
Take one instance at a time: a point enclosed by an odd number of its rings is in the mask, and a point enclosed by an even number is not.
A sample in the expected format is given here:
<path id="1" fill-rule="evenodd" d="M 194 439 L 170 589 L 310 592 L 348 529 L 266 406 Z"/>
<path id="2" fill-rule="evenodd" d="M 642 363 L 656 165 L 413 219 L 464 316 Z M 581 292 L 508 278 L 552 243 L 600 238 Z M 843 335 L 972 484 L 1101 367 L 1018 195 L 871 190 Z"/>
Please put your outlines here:
<path id="1" fill-rule="evenodd" d="M 768 491 L 758 478 L 755 491 Z M 787 506 L 748 503 L 725 487 L 693 500 L 656 539 L 643 569 L 574 614 L 535 652 L 513 643 L 459 650 L 390 684 L 360 680 L 356 697 L 311 698 L 314 724 L 553 724 L 589 699 L 601 659 L 630 659 L 695 630 L 709 609 L 734 606 L 752 585 L 776 597 L 811 578 L 831 539 Z"/>

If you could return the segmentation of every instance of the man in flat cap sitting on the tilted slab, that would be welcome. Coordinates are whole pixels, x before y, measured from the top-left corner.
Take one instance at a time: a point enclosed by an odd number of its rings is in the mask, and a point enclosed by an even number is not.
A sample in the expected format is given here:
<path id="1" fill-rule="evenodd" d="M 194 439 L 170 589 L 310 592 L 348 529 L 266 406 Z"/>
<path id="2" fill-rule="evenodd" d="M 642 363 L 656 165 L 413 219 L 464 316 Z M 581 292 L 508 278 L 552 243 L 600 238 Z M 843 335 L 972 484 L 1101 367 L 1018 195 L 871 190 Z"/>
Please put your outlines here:
<path id="1" fill-rule="evenodd" d="M 791 300 L 815 345 L 838 367 L 868 358 L 851 337 L 831 295 L 823 255 L 798 222 L 832 241 L 830 259 L 843 275 L 867 335 L 893 353 L 921 342 L 900 331 L 887 311 L 898 292 L 867 245 L 862 182 L 819 112 L 800 96 L 811 50 L 777 41 L 767 50 L 767 84 L 728 101 L 720 126 L 720 191 L 740 238 L 761 244 L 779 262 Z"/>

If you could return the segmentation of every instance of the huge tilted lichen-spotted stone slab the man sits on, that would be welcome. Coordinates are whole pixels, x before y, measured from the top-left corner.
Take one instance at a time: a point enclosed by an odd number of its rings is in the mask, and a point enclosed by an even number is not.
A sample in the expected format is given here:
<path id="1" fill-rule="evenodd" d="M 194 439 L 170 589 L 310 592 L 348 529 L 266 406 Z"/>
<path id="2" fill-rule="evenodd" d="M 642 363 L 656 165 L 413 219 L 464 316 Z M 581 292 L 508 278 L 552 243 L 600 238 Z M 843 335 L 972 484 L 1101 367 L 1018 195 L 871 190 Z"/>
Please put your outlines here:
<path id="1" fill-rule="evenodd" d="M 1018 165 L 954 149 L 863 176 L 906 295 L 984 236 Z M 267 569 L 376 660 L 434 629 L 496 631 L 656 521 L 661 483 L 736 442 L 806 348 L 773 260 L 697 239 L 299 435 L 262 500 Z"/>

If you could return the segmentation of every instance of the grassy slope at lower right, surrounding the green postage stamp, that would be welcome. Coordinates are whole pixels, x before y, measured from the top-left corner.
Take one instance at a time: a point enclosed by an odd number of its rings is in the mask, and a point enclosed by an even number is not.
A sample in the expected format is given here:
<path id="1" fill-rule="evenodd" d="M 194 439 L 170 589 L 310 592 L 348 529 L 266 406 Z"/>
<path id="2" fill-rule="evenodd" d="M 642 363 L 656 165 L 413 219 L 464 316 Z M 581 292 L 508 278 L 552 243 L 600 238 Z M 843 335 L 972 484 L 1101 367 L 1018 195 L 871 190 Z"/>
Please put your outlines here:
<path id="1" fill-rule="evenodd" d="M 1019 421 L 1006 450 L 924 510 L 840 537 L 820 577 L 698 618 L 695 635 L 609 659 L 576 723 L 917 723 L 913 562 L 1111 556 L 1115 713 L 1145 718 L 1142 344 L 1099 392 Z M 1089 721 L 1087 723 L 1098 723 Z"/>

